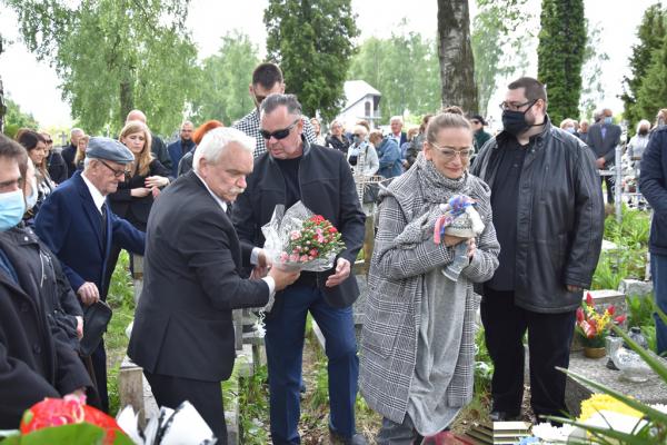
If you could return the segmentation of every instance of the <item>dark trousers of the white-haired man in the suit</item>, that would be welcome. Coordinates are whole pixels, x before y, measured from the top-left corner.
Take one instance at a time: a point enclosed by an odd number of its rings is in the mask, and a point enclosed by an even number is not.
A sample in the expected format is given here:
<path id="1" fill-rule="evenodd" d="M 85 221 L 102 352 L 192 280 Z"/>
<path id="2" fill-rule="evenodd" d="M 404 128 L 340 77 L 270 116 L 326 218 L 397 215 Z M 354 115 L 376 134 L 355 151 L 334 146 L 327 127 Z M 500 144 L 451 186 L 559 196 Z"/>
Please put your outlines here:
<path id="1" fill-rule="evenodd" d="M 146 369 L 143 375 L 150 384 L 158 406 L 176 409 L 181 403 L 189 400 L 218 437 L 217 443 L 227 445 L 227 425 L 225 424 L 220 382 L 193 380 L 152 374 Z"/>

